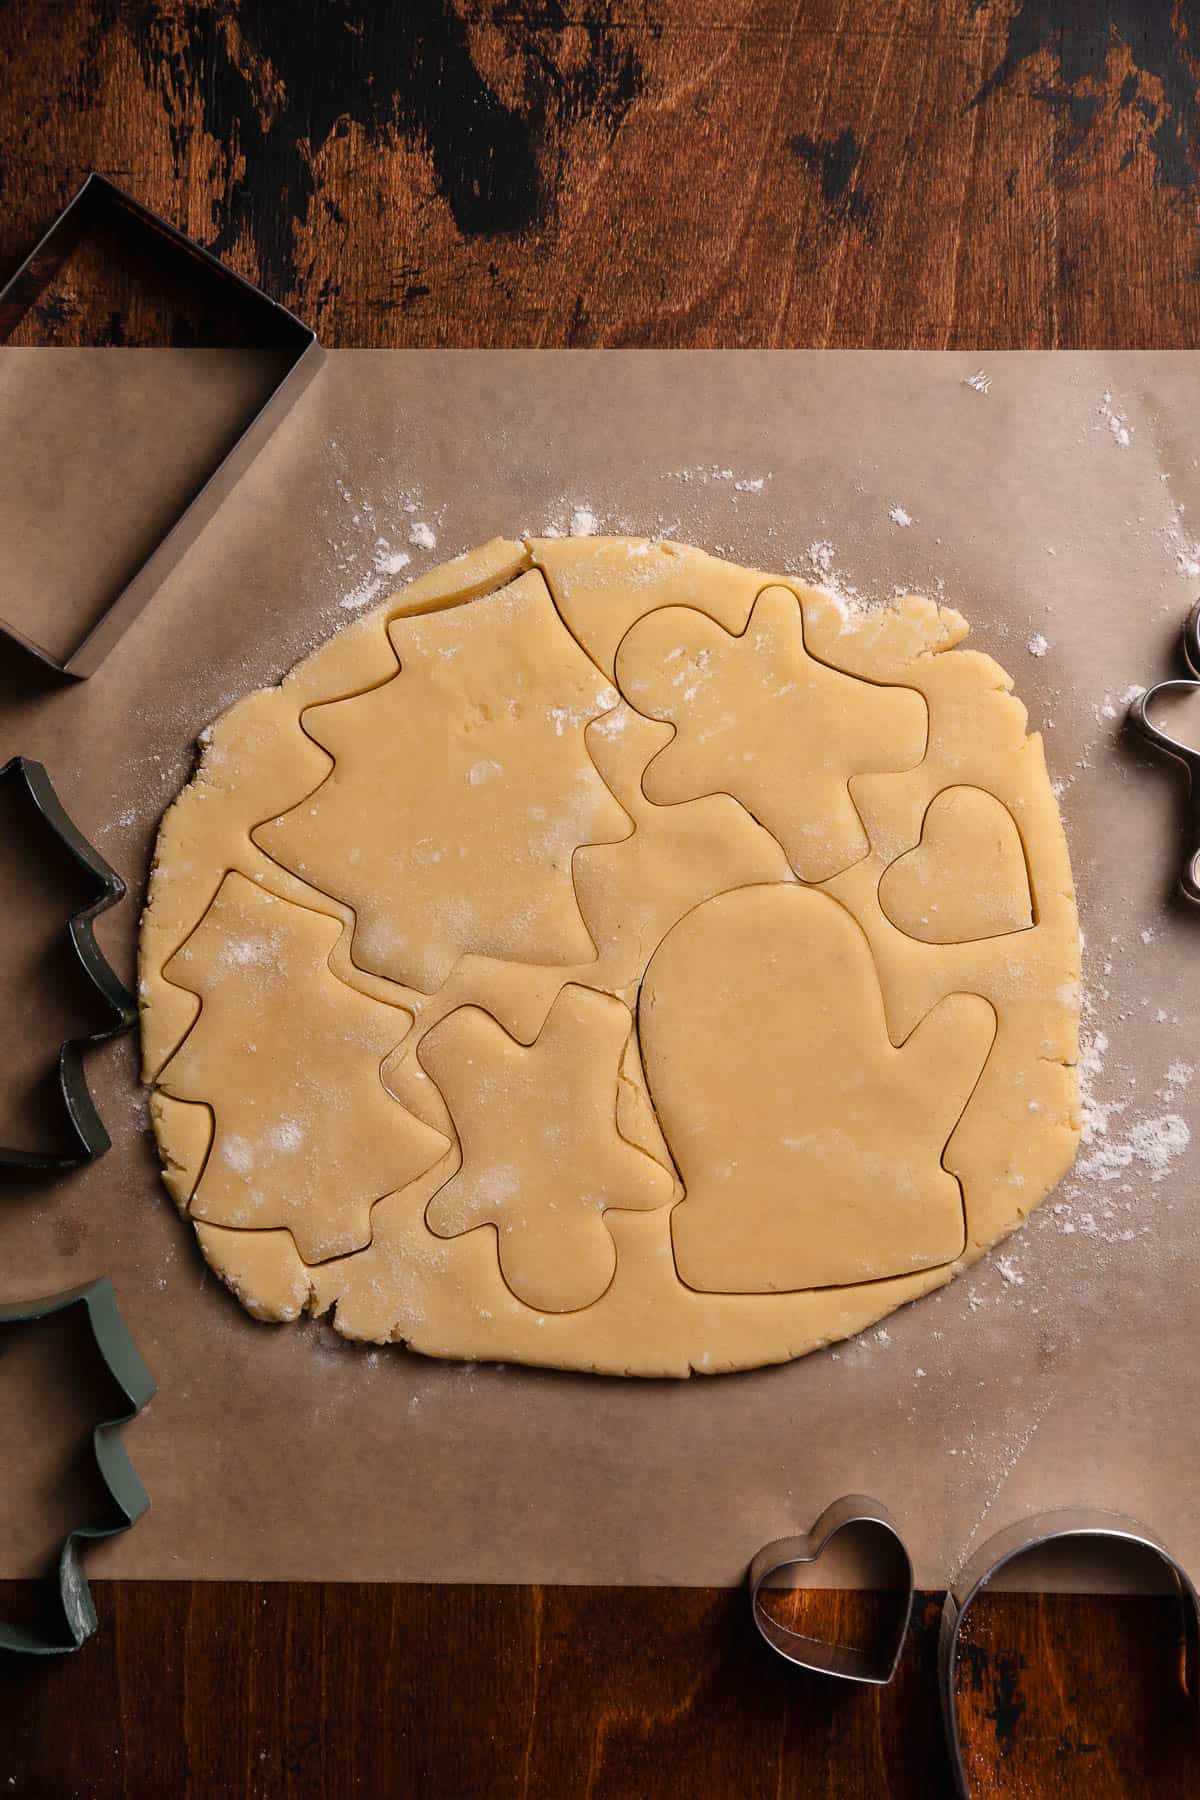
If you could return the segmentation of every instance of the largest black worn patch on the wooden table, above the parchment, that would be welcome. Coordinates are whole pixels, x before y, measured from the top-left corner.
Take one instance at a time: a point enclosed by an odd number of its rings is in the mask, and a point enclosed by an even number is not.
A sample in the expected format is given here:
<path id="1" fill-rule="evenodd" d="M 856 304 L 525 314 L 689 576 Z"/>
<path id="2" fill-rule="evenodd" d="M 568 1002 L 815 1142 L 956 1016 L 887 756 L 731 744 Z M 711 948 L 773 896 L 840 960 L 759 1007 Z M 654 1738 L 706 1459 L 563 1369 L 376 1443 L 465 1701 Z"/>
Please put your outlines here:
<path id="1" fill-rule="evenodd" d="M 448 0 L 399 9 L 349 0 L 313 5 L 299 29 L 275 0 L 212 7 L 189 0 L 139 7 L 133 41 L 157 86 L 176 175 L 193 153 L 193 101 L 203 131 L 223 149 L 221 220 L 209 243 L 227 252 L 254 234 L 263 277 L 297 277 L 293 227 L 317 193 L 315 164 L 331 137 L 358 126 L 369 146 L 399 133 L 430 160 L 437 193 L 471 236 L 527 232 L 545 220 L 552 187 L 540 160 L 549 133 L 594 119 L 612 135 L 642 90 L 631 40 L 612 27 L 610 4 L 567 14 L 558 0 L 513 9 L 506 59 L 522 70 L 520 103 L 504 99 L 471 56 L 468 20 Z M 563 56 L 583 38 L 578 59 Z M 279 200 L 275 218 L 255 198 Z M 336 207 L 336 223 L 344 223 Z"/>

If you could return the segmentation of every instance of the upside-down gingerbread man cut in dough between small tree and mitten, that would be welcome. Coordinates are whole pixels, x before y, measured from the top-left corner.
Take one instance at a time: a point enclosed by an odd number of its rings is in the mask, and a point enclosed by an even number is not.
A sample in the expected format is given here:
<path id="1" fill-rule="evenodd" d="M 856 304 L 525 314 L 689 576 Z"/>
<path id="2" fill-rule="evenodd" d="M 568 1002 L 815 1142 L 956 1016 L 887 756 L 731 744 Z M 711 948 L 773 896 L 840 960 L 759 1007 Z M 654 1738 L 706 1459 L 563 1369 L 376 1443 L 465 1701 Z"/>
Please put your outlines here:
<path id="1" fill-rule="evenodd" d="M 617 1130 L 631 1030 L 621 1001 L 567 986 L 529 1046 L 477 1006 L 421 1039 L 462 1143 L 462 1168 L 426 1222 L 441 1237 L 495 1224 L 504 1280 L 540 1312 L 588 1307 L 612 1282 L 608 1208 L 646 1211 L 675 1192 L 671 1174 Z"/>

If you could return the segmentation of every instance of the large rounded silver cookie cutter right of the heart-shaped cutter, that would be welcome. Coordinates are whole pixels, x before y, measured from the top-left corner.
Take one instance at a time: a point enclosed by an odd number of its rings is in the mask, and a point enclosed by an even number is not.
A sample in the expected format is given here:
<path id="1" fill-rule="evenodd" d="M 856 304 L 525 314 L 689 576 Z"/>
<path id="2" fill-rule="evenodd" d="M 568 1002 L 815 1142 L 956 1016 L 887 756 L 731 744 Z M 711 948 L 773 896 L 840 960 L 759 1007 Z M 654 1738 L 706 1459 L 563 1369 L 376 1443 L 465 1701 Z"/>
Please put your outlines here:
<path id="1" fill-rule="evenodd" d="M 1180 1676 L 1184 1692 L 1196 1697 L 1196 1669 L 1200 1667 L 1200 1597 L 1184 1566 L 1171 1555 L 1168 1546 L 1155 1537 L 1137 1519 L 1126 1519 L 1119 1512 L 1101 1512 L 1087 1507 L 1065 1507 L 1056 1512 L 1036 1512 L 1029 1519 L 1018 1519 L 990 1537 L 966 1566 L 955 1575 L 941 1615 L 941 1634 L 937 1640 L 937 1681 L 941 1687 L 941 1712 L 946 1730 L 946 1748 L 954 1768 L 954 1784 L 959 1800 L 970 1800 L 966 1764 L 963 1760 L 963 1739 L 959 1735 L 959 1708 L 955 1696 L 955 1678 L 959 1667 L 959 1636 L 963 1618 L 982 1588 L 1009 1562 L 1065 1539 L 1087 1537 L 1101 1544 L 1123 1544 L 1133 1548 L 1153 1564 L 1159 1562 L 1169 1573 L 1180 1602 L 1180 1638 L 1182 1663 Z"/>

